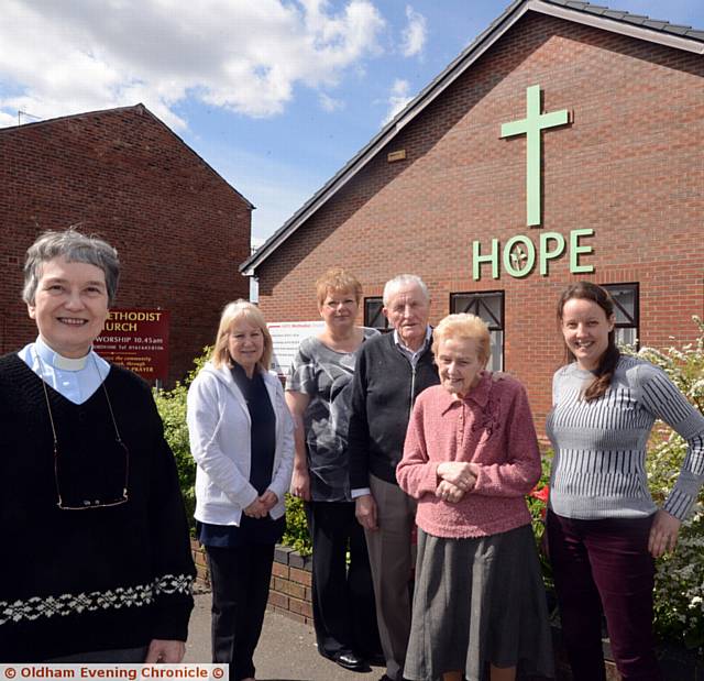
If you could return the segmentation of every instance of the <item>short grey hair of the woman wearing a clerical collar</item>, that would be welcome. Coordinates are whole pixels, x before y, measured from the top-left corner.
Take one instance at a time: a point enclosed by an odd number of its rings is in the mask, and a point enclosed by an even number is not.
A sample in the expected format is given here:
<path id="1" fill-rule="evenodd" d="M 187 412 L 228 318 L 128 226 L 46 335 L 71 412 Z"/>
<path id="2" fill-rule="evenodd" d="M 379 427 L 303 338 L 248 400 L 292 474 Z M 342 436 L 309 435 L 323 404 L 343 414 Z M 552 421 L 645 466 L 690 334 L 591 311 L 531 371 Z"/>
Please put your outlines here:
<path id="1" fill-rule="evenodd" d="M 118 252 L 107 241 L 97 237 L 86 237 L 74 228 L 63 232 L 44 232 L 26 250 L 22 299 L 28 305 L 34 305 L 44 263 L 55 257 L 63 257 L 67 263 L 95 265 L 102 270 L 108 288 L 108 307 L 112 306 L 120 279 Z"/>

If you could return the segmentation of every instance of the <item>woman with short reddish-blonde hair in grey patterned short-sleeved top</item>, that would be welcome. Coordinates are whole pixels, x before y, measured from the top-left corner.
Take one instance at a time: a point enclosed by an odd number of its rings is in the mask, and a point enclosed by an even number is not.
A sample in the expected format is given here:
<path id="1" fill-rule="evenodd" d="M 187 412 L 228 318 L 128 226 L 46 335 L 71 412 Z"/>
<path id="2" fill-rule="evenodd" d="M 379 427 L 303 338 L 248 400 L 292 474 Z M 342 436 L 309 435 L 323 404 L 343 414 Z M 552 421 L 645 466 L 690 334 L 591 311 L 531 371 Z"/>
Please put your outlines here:
<path id="1" fill-rule="evenodd" d="M 346 433 L 356 350 L 376 331 L 354 325 L 359 281 L 342 268 L 316 284 L 324 330 L 300 343 L 286 382 L 296 424 L 292 491 L 305 502 L 312 538 L 312 609 L 318 651 L 361 671 L 380 649 L 366 543 L 350 496 Z M 346 552 L 350 551 L 350 565 Z"/>

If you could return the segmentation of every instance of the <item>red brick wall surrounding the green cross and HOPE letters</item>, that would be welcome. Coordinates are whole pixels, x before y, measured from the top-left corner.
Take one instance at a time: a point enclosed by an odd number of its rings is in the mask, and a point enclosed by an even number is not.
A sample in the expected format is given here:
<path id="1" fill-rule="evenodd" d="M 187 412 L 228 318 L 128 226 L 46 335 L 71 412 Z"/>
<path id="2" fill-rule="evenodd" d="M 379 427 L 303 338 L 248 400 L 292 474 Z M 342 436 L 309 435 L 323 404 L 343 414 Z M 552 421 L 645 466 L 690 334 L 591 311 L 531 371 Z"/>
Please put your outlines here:
<path id="1" fill-rule="evenodd" d="M 505 366 L 528 387 L 541 425 L 562 345 L 559 292 L 569 261 L 550 276 L 522 279 L 483 268 L 472 279 L 472 240 L 486 252 L 516 234 L 569 235 L 592 228 L 600 283 L 640 283 L 640 339 L 691 340 L 703 311 L 704 63 L 700 56 L 529 13 L 274 256 L 258 268 L 270 320 L 317 317 L 314 282 L 343 265 L 366 295 L 402 272 L 421 275 L 431 321 L 450 294 L 505 292 Z M 525 135 L 499 139 L 524 118 L 526 88 L 540 84 L 543 110 L 574 111 L 572 124 L 543 132 L 543 220 L 526 227 Z M 407 160 L 389 164 L 389 151 Z"/>

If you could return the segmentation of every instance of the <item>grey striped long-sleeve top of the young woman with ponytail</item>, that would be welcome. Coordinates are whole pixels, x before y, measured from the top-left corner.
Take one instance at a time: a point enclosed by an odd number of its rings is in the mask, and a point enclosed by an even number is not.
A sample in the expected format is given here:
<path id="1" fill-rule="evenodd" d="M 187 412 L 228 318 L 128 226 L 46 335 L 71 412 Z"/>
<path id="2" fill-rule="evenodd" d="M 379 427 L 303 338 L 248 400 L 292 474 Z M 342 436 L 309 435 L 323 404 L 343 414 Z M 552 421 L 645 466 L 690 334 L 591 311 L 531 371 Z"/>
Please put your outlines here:
<path id="1" fill-rule="evenodd" d="M 552 381 L 547 430 L 554 448 L 550 507 L 570 518 L 638 517 L 656 512 L 645 459 L 657 418 L 686 441 L 688 452 L 664 509 L 689 514 L 704 481 L 704 416 L 649 362 L 622 356 L 610 387 L 592 402 L 581 398 L 594 375 L 576 363 Z"/>

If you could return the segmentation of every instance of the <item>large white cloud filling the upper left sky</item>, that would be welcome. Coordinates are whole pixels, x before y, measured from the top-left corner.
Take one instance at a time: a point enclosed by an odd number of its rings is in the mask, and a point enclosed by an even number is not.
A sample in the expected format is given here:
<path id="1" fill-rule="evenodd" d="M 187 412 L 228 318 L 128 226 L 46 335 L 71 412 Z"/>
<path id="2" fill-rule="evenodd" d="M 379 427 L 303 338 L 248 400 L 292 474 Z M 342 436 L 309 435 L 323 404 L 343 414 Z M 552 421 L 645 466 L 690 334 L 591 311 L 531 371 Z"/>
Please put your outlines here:
<path id="1" fill-rule="evenodd" d="M 184 129 L 188 97 L 250 117 L 333 87 L 381 53 L 370 0 L 3 0 L 0 110 L 42 118 L 143 101 Z M 4 117 L 0 121 L 6 120 Z"/>

